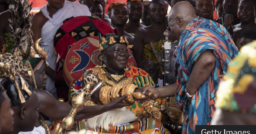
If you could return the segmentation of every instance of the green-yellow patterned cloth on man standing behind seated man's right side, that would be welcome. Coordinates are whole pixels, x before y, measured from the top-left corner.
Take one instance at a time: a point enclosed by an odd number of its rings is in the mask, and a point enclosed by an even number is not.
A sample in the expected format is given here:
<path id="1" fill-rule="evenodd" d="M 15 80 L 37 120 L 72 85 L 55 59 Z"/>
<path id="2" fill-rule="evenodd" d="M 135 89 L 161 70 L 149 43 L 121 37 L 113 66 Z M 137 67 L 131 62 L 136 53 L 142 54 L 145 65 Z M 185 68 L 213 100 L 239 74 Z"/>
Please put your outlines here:
<path id="1" fill-rule="evenodd" d="M 172 42 L 172 41 L 169 41 Z M 158 51 L 158 55 L 160 57 L 160 59 L 162 60 L 164 55 L 163 55 L 163 44 L 165 43 L 165 40 L 160 40 L 159 42 L 154 42 L 154 47 L 156 48 L 156 50 Z M 152 48 L 150 46 L 150 44 L 145 44 L 144 45 L 144 50 L 143 50 L 143 60 L 152 60 L 154 61 L 154 63 L 157 64 L 157 69 L 159 70 L 159 75 L 162 74 L 162 72 L 160 71 L 160 66 L 163 66 L 163 63 L 157 63 L 157 59 L 155 58 Z"/>

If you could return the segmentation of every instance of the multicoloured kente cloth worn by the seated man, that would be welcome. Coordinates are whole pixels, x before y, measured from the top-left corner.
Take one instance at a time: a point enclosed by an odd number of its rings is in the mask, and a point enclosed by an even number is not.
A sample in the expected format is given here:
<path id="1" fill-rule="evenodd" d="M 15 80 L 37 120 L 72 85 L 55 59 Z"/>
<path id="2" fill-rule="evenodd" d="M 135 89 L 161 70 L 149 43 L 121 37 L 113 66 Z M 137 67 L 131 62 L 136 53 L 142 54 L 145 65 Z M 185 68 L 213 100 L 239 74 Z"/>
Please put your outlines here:
<path id="1" fill-rule="evenodd" d="M 103 69 L 106 73 L 109 73 L 107 71 L 107 69 L 105 69 L 103 66 L 101 68 L 99 68 L 99 66 L 98 67 L 96 66 L 95 68 L 92 68 L 91 70 L 97 71 L 99 69 Z M 121 75 L 133 78 L 132 79 L 133 84 L 138 86 L 139 88 L 144 87 L 146 85 L 150 85 L 150 86 L 155 85 L 151 76 L 147 72 L 145 72 L 144 70 L 142 70 L 140 68 L 136 68 L 134 66 L 130 66 Z M 71 88 L 70 88 L 70 102 L 76 96 L 76 91 L 81 88 L 81 84 L 82 84 L 82 77 L 80 78 L 80 80 L 77 80 L 76 83 L 74 83 L 71 86 Z M 108 86 L 108 85 L 104 84 L 103 86 Z M 100 105 L 101 104 L 101 103 L 94 102 L 92 99 L 90 99 L 90 100 L 93 103 L 93 105 Z M 161 105 L 164 105 L 165 103 L 166 103 L 166 99 L 164 99 L 164 98 L 157 99 L 154 102 L 154 107 L 163 110 L 163 107 Z M 142 107 L 140 105 L 140 103 L 137 103 L 137 102 L 135 102 L 131 106 L 127 106 L 126 108 L 128 108 L 130 111 L 132 111 L 135 115 L 139 111 L 144 111 L 145 110 L 145 108 Z M 78 122 L 77 131 L 79 131 L 83 128 L 93 130 L 93 131 L 98 131 L 100 133 L 137 132 L 137 131 L 145 131 L 147 129 L 151 129 L 150 133 L 155 131 L 155 129 L 158 130 L 160 134 L 166 134 L 166 132 L 169 133 L 169 131 L 165 130 L 165 128 L 163 127 L 163 124 L 160 122 L 160 120 L 152 119 L 152 118 L 144 119 L 144 120 L 141 120 L 140 122 L 134 121 L 133 123 L 131 123 L 129 125 L 109 126 L 108 130 L 104 130 L 103 128 L 99 128 L 99 127 L 97 127 L 96 129 L 88 128 L 86 121 Z M 144 134 L 148 134 L 148 133 L 144 133 Z"/>

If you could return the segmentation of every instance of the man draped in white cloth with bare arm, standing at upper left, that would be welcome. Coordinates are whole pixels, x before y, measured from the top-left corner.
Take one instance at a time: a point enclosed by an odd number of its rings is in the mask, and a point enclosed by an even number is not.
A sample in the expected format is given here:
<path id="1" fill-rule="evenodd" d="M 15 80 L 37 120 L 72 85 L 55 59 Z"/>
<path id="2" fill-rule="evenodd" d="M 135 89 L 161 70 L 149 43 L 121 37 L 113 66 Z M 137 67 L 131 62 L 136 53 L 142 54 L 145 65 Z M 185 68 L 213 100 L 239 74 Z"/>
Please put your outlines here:
<path id="1" fill-rule="evenodd" d="M 54 85 L 56 57 L 53 46 L 53 38 L 63 21 L 70 17 L 91 16 L 86 5 L 65 0 L 47 0 L 48 3 L 41 8 L 32 18 L 33 40 L 42 38 L 40 46 L 48 53 L 46 58 L 49 66 L 46 69 L 46 89 L 57 99 Z"/>

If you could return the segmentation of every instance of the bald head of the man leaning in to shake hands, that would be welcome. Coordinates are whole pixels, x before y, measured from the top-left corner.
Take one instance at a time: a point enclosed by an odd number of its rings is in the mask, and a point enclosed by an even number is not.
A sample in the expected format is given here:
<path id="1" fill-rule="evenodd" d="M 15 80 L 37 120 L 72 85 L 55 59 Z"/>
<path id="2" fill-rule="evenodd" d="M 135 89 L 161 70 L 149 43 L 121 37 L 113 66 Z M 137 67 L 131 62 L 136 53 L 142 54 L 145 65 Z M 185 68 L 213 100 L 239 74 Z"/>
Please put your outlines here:
<path id="1" fill-rule="evenodd" d="M 168 15 L 172 34 L 179 38 L 186 26 L 196 17 L 195 10 L 190 3 L 185 1 L 177 3 Z"/>

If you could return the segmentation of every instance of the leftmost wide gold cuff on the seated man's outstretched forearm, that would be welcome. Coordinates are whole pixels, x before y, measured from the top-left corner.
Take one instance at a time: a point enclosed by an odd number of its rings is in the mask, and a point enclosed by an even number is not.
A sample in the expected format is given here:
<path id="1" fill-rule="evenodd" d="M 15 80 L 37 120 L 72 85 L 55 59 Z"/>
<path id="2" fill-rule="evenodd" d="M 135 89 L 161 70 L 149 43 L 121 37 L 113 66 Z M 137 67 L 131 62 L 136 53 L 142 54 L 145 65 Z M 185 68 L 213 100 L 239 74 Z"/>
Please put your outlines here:
<path id="1" fill-rule="evenodd" d="M 111 86 L 103 86 L 100 91 L 99 91 L 99 100 L 103 104 L 108 104 L 111 102 L 110 100 L 110 91 L 111 91 Z"/>

